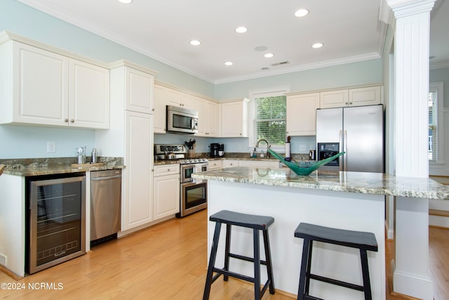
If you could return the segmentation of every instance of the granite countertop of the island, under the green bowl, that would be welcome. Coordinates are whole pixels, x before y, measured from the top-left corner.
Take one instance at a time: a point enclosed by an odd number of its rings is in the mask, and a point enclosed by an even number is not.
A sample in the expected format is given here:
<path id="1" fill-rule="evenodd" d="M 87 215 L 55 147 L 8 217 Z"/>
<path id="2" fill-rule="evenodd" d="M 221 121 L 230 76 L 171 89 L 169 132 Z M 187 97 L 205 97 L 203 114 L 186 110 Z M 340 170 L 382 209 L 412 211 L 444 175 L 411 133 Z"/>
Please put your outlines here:
<path id="1" fill-rule="evenodd" d="M 380 173 L 318 170 L 309 176 L 299 176 L 286 168 L 233 167 L 195 173 L 192 177 L 290 188 L 449 200 L 449 186 L 427 178 L 395 177 Z"/>

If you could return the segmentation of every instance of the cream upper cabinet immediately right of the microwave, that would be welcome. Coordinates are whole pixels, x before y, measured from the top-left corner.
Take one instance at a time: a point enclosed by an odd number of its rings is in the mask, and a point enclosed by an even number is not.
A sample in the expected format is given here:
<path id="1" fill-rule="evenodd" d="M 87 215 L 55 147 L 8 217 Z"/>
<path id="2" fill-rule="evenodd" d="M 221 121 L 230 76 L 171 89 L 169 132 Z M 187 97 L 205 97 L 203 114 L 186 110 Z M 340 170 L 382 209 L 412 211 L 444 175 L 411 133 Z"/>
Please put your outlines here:
<path id="1" fill-rule="evenodd" d="M 198 111 L 196 136 L 218 136 L 218 103 L 195 97 L 194 110 Z"/>

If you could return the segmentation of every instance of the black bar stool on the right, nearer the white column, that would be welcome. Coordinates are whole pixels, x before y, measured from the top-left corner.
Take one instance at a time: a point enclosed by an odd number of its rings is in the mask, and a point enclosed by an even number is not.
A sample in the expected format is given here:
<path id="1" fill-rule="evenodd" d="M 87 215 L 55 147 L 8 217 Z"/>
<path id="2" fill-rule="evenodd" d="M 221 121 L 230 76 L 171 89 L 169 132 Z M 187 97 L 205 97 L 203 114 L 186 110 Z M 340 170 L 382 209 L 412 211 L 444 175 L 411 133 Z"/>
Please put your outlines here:
<path id="1" fill-rule="evenodd" d="M 349 289 L 356 289 L 365 293 L 365 299 L 371 300 L 370 273 L 368 272 L 367 250 L 377 252 L 377 240 L 373 233 L 361 231 L 342 230 L 317 226 L 309 223 L 300 223 L 295 230 L 295 237 L 304 239 L 302 245 L 302 263 L 300 273 L 300 287 L 297 292 L 297 299 L 319 299 L 309 295 L 309 282 L 311 279 L 327 282 Z M 329 244 L 339 244 L 345 247 L 358 248 L 360 250 L 363 286 L 352 283 L 326 278 L 310 273 L 311 250 L 314 240 L 327 242 Z"/>

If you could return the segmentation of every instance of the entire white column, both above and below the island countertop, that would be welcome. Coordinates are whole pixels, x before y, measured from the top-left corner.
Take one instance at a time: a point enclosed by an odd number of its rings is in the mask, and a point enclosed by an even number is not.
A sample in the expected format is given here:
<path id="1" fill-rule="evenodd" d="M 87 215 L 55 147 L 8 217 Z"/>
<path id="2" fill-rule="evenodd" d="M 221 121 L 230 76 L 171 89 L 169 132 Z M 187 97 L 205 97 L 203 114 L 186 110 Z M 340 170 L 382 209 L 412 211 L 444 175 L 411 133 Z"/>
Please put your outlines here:
<path id="1" fill-rule="evenodd" d="M 430 11 L 435 0 L 387 0 L 396 18 L 395 174 L 428 178 Z M 429 277 L 429 202 L 396 197 L 394 292 L 433 299 Z"/>

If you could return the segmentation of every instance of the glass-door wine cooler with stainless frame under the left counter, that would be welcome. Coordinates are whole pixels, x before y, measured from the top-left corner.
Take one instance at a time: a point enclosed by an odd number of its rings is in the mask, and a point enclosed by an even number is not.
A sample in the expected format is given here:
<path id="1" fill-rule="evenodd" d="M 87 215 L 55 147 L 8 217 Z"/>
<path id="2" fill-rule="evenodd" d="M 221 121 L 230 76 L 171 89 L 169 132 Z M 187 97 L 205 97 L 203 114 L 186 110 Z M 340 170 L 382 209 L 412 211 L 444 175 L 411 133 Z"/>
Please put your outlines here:
<path id="1" fill-rule="evenodd" d="M 84 174 L 27 177 L 27 273 L 86 253 Z"/>

